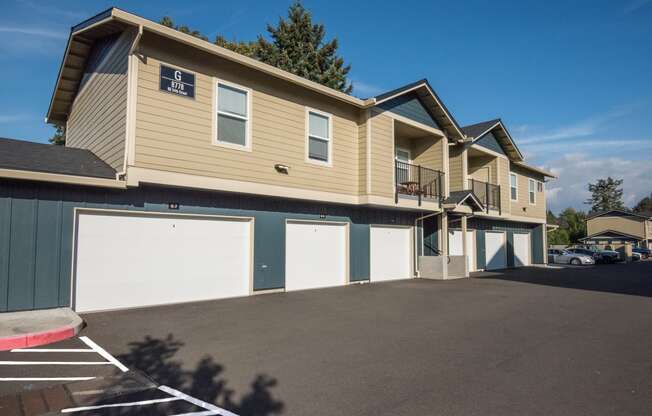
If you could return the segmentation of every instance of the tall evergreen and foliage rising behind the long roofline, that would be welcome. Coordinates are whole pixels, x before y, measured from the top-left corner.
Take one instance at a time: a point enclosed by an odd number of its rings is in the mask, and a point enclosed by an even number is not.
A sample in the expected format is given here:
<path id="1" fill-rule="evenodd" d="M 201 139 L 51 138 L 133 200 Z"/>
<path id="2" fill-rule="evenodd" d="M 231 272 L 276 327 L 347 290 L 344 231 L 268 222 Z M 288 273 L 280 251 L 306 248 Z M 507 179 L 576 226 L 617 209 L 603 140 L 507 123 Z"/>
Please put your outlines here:
<path id="1" fill-rule="evenodd" d="M 161 19 L 160 23 L 208 40 L 198 30 L 176 25 L 169 16 Z M 351 65 L 345 65 L 344 59 L 337 55 L 337 38 L 326 41 L 324 25 L 313 24 L 310 12 L 299 1 L 290 6 L 287 19 L 280 18 L 276 27 L 267 25 L 267 31 L 271 37 L 269 41 L 262 35 L 256 41 L 229 41 L 217 35 L 213 43 L 327 87 L 351 93 L 353 85 L 347 79 Z"/>

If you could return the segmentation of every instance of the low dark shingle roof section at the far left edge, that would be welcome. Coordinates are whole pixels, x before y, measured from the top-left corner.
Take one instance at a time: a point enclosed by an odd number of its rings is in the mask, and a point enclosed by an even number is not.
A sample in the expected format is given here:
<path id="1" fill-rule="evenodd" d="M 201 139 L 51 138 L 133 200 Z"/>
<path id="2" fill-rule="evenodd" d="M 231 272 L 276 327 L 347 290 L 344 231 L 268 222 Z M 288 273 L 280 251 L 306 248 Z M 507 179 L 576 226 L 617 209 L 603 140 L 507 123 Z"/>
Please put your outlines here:
<path id="1" fill-rule="evenodd" d="M 0 169 L 115 179 L 116 171 L 86 149 L 0 138 Z"/>

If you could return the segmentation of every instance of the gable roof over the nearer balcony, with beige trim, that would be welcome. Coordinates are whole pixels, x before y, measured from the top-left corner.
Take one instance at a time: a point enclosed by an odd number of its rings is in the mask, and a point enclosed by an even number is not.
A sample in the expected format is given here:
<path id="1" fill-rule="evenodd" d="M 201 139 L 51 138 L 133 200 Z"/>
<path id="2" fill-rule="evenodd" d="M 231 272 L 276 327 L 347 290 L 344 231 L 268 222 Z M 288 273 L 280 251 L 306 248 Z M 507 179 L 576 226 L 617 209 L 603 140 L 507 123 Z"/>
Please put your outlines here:
<path id="1" fill-rule="evenodd" d="M 431 113 L 437 124 L 450 138 L 464 140 L 464 133 L 457 123 L 457 120 L 455 120 L 450 111 L 448 111 L 446 105 L 444 105 L 443 101 L 439 98 L 435 90 L 425 78 L 379 94 L 367 100 L 373 100 L 374 105 L 380 105 L 409 93 L 415 93 L 417 95 L 419 100 Z"/>

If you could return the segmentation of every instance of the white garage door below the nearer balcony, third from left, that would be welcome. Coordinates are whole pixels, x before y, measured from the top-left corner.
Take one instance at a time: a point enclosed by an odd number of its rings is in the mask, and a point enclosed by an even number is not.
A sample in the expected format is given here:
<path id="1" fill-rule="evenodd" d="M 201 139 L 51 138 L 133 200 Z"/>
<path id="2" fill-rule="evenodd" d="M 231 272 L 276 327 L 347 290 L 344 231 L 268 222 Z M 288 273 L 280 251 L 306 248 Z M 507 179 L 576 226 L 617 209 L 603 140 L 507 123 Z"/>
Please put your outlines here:
<path id="1" fill-rule="evenodd" d="M 372 282 L 412 277 L 412 229 L 371 226 Z"/>

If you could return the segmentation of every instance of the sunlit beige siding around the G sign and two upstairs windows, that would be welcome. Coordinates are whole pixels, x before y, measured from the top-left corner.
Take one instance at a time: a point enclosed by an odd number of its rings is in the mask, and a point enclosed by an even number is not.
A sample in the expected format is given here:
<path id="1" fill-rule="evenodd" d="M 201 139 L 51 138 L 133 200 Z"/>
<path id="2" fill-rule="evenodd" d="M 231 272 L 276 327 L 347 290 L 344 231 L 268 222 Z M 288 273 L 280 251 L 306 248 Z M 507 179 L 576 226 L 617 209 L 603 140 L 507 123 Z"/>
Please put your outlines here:
<path id="1" fill-rule="evenodd" d="M 139 64 L 135 165 L 229 180 L 357 195 L 361 114 L 353 107 L 254 70 L 144 36 Z M 159 91 L 160 64 L 196 74 L 195 99 Z M 251 89 L 251 151 L 212 143 L 215 79 Z M 306 160 L 306 106 L 332 114 L 332 166 Z M 275 164 L 290 167 L 276 172 Z"/>

